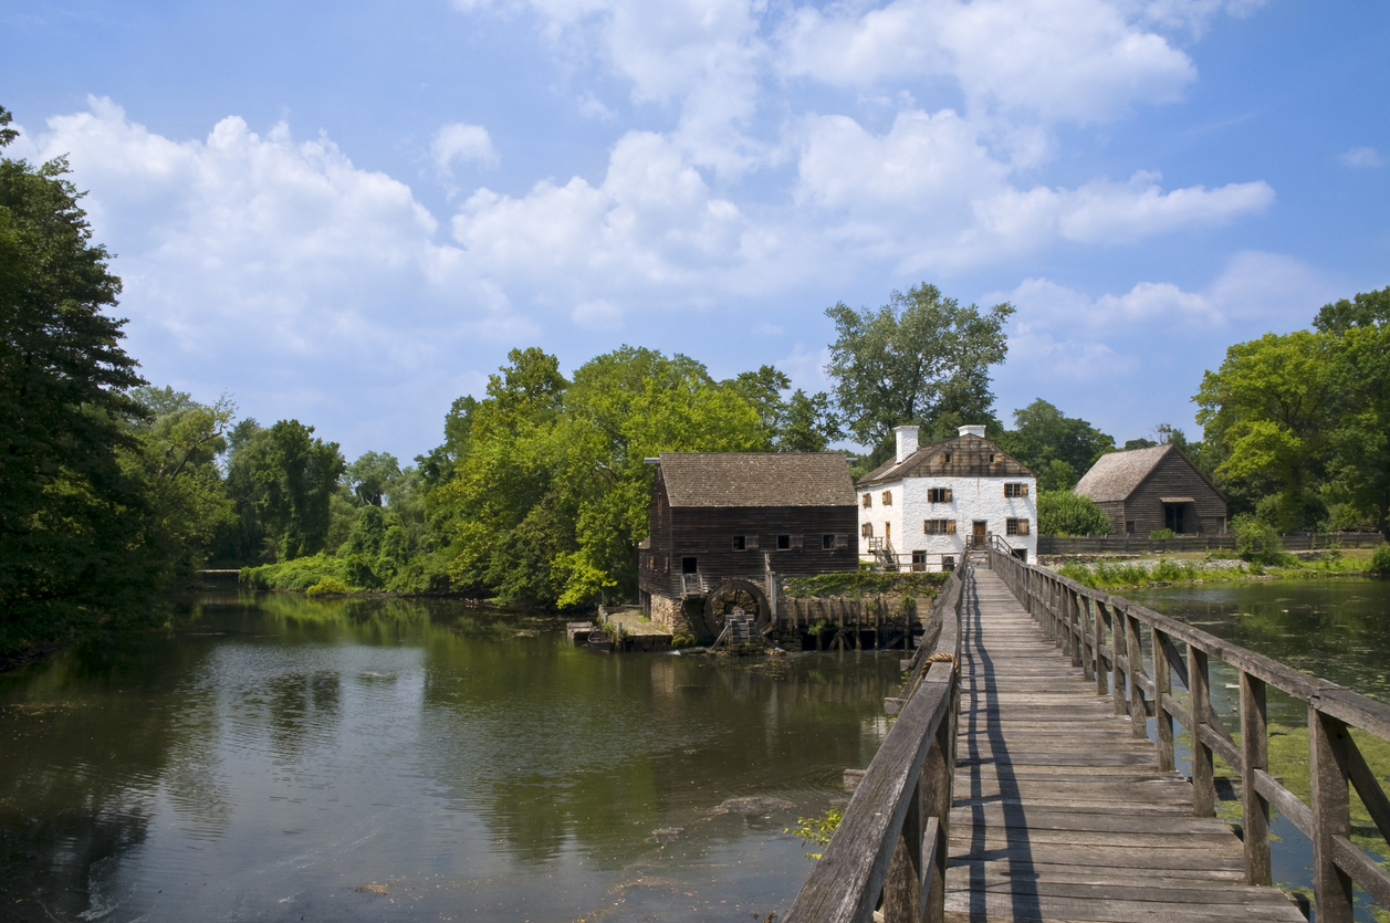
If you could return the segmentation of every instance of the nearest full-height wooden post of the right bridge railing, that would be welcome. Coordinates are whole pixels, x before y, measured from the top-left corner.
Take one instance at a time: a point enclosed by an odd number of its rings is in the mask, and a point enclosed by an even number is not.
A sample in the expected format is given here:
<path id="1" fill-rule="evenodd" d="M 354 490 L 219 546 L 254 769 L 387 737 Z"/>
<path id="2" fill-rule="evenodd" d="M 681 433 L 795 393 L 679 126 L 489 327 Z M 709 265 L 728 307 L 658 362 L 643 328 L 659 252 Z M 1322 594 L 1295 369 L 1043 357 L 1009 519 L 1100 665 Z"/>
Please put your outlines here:
<path id="1" fill-rule="evenodd" d="M 1351 837 L 1347 726 L 1308 706 L 1312 781 L 1312 885 L 1318 923 L 1351 923 L 1351 877 L 1337 867 L 1333 837 Z"/>

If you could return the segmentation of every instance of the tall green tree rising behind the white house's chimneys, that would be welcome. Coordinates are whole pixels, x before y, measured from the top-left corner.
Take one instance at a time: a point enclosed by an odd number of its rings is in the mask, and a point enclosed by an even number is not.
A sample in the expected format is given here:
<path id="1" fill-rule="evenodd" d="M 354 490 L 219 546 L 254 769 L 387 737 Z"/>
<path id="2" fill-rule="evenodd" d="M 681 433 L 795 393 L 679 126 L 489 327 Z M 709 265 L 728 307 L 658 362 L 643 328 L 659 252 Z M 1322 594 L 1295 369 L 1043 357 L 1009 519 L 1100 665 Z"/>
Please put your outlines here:
<path id="1" fill-rule="evenodd" d="M 934 285 L 894 292 L 877 311 L 842 302 L 826 311 L 835 322 L 827 371 L 849 432 L 885 446 L 894 427 L 935 431 L 938 418 L 984 423 L 994 395 L 990 367 L 1004 361 L 1004 324 L 1013 306 L 981 311 L 942 297 Z"/>

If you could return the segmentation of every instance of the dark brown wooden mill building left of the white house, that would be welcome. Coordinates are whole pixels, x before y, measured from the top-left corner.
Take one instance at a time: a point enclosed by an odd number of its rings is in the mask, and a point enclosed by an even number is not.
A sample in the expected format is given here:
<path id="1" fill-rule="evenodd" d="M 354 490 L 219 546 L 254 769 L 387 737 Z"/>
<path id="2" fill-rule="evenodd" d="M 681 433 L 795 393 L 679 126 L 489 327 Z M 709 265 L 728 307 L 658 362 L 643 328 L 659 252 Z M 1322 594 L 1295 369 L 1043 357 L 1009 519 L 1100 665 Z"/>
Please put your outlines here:
<path id="1" fill-rule="evenodd" d="M 713 631 L 720 601 L 770 617 L 769 573 L 858 569 L 849 466 L 824 453 L 671 453 L 656 463 L 642 610 L 671 631 Z"/>

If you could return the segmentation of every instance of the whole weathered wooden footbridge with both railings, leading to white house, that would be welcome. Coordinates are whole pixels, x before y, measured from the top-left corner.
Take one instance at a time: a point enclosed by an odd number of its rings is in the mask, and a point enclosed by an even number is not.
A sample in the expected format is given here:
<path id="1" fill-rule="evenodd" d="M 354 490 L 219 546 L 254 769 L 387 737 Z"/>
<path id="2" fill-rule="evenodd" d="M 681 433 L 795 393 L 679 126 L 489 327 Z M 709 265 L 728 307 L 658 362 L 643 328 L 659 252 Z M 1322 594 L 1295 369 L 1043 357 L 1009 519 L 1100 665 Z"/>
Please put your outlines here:
<path id="1" fill-rule="evenodd" d="M 1302 922 L 1270 880 L 1270 808 L 1312 841 L 1316 923 L 1352 920 L 1354 885 L 1390 908 L 1350 838 L 1355 791 L 1390 840 L 1350 733 L 1390 740 L 1390 706 L 998 549 L 958 574 L 790 923 Z M 1211 657 L 1240 677 L 1234 734 Z M 1311 803 L 1268 771 L 1269 685 L 1308 706 Z M 1197 738 L 1190 776 L 1175 726 Z M 1238 773 L 1240 824 L 1215 817 L 1213 755 Z"/>

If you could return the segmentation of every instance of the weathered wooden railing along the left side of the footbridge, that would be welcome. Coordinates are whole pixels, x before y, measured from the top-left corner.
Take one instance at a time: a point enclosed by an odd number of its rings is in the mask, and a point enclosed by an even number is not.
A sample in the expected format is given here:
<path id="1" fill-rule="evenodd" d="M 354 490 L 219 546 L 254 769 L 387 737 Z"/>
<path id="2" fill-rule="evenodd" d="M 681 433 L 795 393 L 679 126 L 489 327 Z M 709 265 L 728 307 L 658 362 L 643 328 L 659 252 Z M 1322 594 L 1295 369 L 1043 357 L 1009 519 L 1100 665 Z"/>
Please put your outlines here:
<path id="1" fill-rule="evenodd" d="M 890 728 L 785 923 L 885 923 L 944 915 L 947 826 L 960 692 L 962 571 L 933 606 L 934 644 L 917 648 Z"/>

